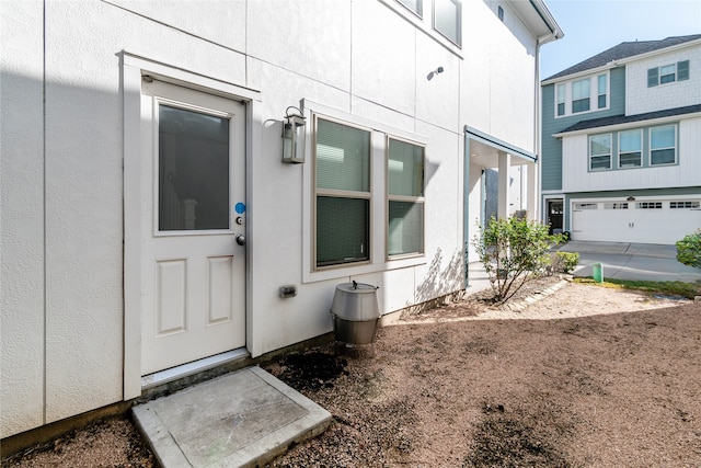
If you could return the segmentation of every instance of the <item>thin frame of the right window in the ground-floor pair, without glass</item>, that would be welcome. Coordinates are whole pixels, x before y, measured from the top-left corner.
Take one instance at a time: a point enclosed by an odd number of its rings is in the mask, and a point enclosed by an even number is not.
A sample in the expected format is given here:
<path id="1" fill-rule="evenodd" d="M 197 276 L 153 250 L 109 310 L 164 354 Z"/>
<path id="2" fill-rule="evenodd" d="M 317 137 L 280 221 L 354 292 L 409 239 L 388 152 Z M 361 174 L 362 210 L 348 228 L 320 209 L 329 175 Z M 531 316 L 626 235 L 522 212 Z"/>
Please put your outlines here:
<path id="1" fill-rule="evenodd" d="M 390 163 L 390 142 L 394 140 L 394 141 L 400 141 L 403 144 L 407 144 L 407 145 L 413 145 L 415 147 L 418 147 L 422 149 L 422 161 L 421 161 L 421 194 L 420 195 L 397 195 L 397 194 L 391 194 L 390 193 L 390 169 L 389 169 L 389 163 Z M 391 134 L 386 134 L 386 147 L 384 147 L 384 153 L 386 153 L 386 158 L 384 158 L 384 170 L 386 170 L 386 184 L 384 184 L 384 194 L 386 194 L 386 206 L 387 206 L 387 216 L 386 216 L 386 220 L 384 220 L 384 228 L 386 228 L 386 235 L 384 235 L 384 240 L 386 240 L 386 249 L 384 249 L 384 253 L 386 253 L 386 260 L 387 261 L 392 261 L 392 260 L 399 260 L 399 259 L 407 259 L 407 258 L 416 258 L 416 256 L 423 256 L 426 253 L 426 145 L 424 144 L 418 144 L 416 141 L 406 139 L 406 138 L 400 138 L 397 136 L 393 136 Z M 421 220 L 421 250 L 417 252 L 403 252 L 403 253 L 395 253 L 392 254 L 390 253 L 390 203 L 392 202 L 403 202 L 403 203 L 412 203 L 414 205 L 421 205 L 422 206 L 422 220 Z"/>

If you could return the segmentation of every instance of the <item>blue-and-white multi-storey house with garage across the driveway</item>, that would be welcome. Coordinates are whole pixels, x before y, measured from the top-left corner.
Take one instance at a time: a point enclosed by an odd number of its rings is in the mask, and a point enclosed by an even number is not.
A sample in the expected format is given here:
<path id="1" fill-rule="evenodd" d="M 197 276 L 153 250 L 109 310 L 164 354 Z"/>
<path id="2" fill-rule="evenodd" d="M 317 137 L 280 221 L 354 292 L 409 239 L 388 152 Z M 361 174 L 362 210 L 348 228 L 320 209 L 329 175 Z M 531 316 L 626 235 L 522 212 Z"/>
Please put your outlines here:
<path id="1" fill-rule="evenodd" d="M 543 219 L 671 244 L 701 227 L 701 34 L 622 43 L 542 82 Z"/>

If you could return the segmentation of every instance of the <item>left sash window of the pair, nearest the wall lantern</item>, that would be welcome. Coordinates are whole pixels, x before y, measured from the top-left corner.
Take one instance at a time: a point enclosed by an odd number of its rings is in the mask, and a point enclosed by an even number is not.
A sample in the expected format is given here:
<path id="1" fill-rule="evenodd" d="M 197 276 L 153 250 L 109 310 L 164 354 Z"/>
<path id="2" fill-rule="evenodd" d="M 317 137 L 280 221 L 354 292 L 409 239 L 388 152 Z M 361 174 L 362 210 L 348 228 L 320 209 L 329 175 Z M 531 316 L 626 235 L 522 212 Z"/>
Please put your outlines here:
<path id="1" fill-rule="evenodd" d="M 370 201 L 370 130 L 317 118 L 317 267 L 369 261 Z"/>

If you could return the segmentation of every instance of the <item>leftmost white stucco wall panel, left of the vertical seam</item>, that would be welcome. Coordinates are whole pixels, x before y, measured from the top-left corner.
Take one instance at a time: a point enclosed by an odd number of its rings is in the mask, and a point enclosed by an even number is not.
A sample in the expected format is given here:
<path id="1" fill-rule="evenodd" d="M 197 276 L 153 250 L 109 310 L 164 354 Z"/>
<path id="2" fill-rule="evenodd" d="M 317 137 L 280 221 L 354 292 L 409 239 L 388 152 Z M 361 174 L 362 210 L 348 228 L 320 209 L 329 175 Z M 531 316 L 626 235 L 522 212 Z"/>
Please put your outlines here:
<path id="1" fill-rule="evenodd" d="M 42 9 L 0 14 L 0 437 L 44 423 Z"/>

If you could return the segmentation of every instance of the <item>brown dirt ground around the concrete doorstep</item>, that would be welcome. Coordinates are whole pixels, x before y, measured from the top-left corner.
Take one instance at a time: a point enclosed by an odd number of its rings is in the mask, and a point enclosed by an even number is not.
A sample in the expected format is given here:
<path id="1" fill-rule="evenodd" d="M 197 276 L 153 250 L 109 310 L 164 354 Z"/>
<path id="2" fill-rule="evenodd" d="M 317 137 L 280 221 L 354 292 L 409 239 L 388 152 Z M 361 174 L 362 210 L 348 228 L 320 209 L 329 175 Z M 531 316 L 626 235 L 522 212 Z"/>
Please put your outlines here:
<path id="1" fill-rule="evenodd" d="M 267 366 L 333 414 L 271 467 L 701 467 L 701 304 L 553 279 L 483 299 L 379 330 L 374 358 Z M 128 420 L 81 431 L 3 466 L 154 465 Z"/>

